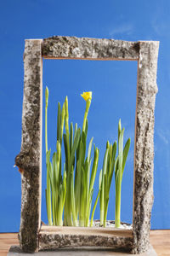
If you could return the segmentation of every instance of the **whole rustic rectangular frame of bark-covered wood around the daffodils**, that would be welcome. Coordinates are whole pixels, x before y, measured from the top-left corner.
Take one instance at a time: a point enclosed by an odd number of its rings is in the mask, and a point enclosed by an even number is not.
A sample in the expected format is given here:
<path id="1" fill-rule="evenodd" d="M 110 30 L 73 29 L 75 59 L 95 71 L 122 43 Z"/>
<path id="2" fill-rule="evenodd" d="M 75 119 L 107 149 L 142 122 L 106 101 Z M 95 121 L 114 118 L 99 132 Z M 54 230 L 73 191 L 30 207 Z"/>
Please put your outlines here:
<path id="1" fill-rule="evenodd" d="M 22 143 L 15 164 L 22 172 L 20 247 L 76 246 L 126 248 L 143 253 L 150 246 L 153 203 L 154 111 L 159 42 L 53 37 L 26 40 Z M 42 57 L 48 59 L 138 61 L 134 140 L 133 230 L 41 227 L 42 189 Z M 52 246 L 52 244 L 54 246 Z"/>

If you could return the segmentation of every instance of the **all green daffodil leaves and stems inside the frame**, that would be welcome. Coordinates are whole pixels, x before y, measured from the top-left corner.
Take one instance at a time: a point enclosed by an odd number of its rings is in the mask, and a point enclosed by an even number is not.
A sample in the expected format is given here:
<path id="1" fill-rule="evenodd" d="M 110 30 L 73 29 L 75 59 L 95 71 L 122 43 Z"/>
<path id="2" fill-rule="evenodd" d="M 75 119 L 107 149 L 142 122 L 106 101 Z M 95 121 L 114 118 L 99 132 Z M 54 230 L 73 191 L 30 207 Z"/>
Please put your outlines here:
<path id="1" fill-rule="evenodd" d="M 100 225 L 105 226 L 111 189 L 111 180 L 115 170 L 115 219 L 116 227 L 120 226 L 122 174 L 130 147 L 130 139 L 127 140 L 127 143 L 123 149 L 124 128 L 122 129 L 121 120 L 119 120 L 118 155 L 116 157 L 117 143 L 115 142 L 110 144 L 107 142 L 103 160 L 103 168 L 99 173 L 99 192 L 96 201 L 94 202 L 94 208 L 90 222 L 92 198 L 94 194 L 94 181 L 99 161 L 99 148 L 95 147 L 95 145 L 94 159 L 91 156 L 94 137 L 92 137 L 90 140 L 88 145 L 88 155 L 86 156 L 88 137 L 88 109 L 90 107 L 90 103 L 91 98 L 86 100 L 86 111 L 84 113 L 82 131 L 81 128 L 77 128 L 77 124 L 75 125 L 74 129 L 72 123 L 69 125 L 67 96 L 65 97 L 62 110 L 60 108 L 60 104 L 58 103 L 56 152 L 54 152 L 51 162 L 51 150 L 48 150 L 48 88 L 46 88 L 46 205 L 49 225 L 64 224 L 69 226 L 93 226 L 94 212 L 99 200 Z M 65 163 L 63 165 L 63 172 L 61 157 L 62 141 L 64 141 L 65 148 Z"/>

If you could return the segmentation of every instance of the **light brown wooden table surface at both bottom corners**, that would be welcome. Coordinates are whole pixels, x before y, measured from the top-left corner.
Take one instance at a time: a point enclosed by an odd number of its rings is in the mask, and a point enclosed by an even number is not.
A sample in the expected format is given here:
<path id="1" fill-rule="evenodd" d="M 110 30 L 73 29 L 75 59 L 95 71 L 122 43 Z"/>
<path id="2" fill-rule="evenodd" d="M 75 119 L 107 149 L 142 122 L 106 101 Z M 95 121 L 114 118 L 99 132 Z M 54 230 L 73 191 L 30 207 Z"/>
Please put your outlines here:
<path id="1" fill-rule="evenodd" d="M 170 256 L 170 230 L 151 230 L 150 243 L 158 256 Z M 9 247 L 17 244 L 17 233 L 0 233 L 0 256 L 6 256 Z"/>

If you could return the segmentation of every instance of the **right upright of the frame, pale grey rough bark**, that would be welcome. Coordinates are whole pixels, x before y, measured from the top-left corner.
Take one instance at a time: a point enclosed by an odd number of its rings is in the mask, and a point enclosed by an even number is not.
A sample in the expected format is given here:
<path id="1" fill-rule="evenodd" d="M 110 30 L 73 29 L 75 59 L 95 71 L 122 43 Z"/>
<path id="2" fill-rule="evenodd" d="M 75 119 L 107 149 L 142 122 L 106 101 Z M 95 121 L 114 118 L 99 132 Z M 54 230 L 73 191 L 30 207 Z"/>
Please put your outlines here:
<path id="1" fill-rule="evenodd" d="M 154 111 L 157 92 L 158 42 L 139 43 L 133 191 L 133 253 L 150 245 L 150 212 L 153 204 Z"/>

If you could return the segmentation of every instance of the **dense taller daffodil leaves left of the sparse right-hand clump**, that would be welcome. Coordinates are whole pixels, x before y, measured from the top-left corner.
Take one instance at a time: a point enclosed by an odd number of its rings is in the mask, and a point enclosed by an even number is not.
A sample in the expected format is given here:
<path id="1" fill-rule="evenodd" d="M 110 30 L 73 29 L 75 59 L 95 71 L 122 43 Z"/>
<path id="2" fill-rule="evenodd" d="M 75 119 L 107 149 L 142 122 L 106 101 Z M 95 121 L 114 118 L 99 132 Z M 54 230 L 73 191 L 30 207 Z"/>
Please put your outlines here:
<path id="1" fill-rule="evenodd" d="M 47 189 L 46 204 L 49 225 L 62 225 L 64 211 L 64 225 L 88 226 L 94 193 L 94 180 L 98 168 L 99 148 L 94 145 L 94 160 L 91 157 L 93 146 L 92 138 L 88 145 L 88 156 L 86 157 L 88 137 L 88 109 L 90 101 L 84 114 L 82 131 L 81 128 L 73 130 L 71 123 L 69 129 L 68 99 L 65 98 L 61 111 L 58 103 L 57 121 L 57 150 L 50 162 L 50 149 L 48 150 L 48 88 L 46 88 L 45 108 L 45 135 L 46 135 L 46 166 L 47 166 Z M 85 125 L 84 125 L 85 124 Z M 65 133 L 64 133 L 65 125 Z M 64 174 L 61 169 L 61 145 L 62 138 L 65 147 Z M 93 162 L 93 166 L 91 168 Z"/>

